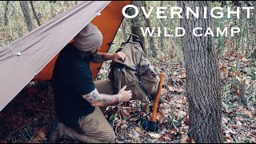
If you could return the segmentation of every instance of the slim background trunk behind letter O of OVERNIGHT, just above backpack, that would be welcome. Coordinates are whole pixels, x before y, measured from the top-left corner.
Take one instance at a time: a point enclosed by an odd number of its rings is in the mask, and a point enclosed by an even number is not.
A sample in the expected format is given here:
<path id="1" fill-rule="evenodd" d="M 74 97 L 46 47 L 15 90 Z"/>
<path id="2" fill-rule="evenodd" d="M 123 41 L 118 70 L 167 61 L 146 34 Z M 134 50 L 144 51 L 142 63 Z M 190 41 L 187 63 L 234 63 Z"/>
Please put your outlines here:
<path id="1" fill-rule="evenodd" d="M 133 5 L 140 8 L 141 3 L 139 1 L 134 1 Z M 130 15 L 134 14 L 134 11 L 129 10 L 129 13 Z M 143 37 L 142 30 L 140 29 L 140 27 L 142 27 L 142 24 L 141 24 L 142 22 L 139 15 L 135 18 L 131 18 L 130 22 L 131 22 L 131 25 L 130 25 L 131 33 L 137 35 L 142 40 L 142 45 L 144 46 L 144 52 L 147 56 L 148 50 L 146 49 L 145 38 Z"/>

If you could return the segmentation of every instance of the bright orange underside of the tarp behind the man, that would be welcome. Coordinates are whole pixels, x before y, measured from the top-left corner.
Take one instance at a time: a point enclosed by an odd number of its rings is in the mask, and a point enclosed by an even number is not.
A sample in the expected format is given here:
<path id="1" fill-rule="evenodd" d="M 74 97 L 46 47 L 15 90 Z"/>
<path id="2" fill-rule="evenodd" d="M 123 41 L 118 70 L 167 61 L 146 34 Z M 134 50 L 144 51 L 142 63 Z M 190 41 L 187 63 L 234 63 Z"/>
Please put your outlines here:
<path id="1" fill-rule="evenodd" d="M 118 31 L 120 24 L 122 23 L 123 15 L 122 8 L 130 4 L 131 1 L 113 1 L 110 2 L 101 14 L 95 17 L 92 23 L 98 26 L 98 29 L 102 31 L 103 42 L 99 52 L 107 52 L 110 46 L 107 45 L 109 42 L 113 42 L 114 36 Z M 70 41 L 72 42 L 72 40 Z M 52 77 L 54 63 L 58 55 L 46 65 L 46 67 L 32 80 L 32 81 L 45 81 L 50 80 Z M 102 63 L 91 63 L 91 70 L 93 77 L 96 78 L 98 70 L 102 66 Z"/>

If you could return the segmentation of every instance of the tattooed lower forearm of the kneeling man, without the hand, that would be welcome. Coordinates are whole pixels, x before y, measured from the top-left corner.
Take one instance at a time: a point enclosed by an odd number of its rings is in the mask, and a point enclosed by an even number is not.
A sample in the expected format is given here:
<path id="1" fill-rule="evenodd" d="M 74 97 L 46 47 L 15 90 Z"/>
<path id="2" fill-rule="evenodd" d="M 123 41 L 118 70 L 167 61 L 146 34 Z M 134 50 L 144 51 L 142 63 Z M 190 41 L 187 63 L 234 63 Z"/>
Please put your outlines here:
<path id="1" fill-rule="evenodd" d="M 97 89 L 83 95 L 82 98 L 85 98 L 90 104 L 98 106 L 111 106 L 119 102 L 118 95 L 99 94 Z"/>

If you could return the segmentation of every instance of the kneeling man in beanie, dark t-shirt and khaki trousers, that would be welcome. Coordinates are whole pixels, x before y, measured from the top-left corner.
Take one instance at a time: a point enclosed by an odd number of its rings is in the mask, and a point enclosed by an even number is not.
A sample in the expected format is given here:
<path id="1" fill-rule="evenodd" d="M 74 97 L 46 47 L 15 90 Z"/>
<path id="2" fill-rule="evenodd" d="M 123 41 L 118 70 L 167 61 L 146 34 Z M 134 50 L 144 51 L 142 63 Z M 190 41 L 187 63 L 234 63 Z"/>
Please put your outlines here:
<path id="1" fill-rule="evenodd" d="M 122 62 L 125 59 L 122 52 L 99 53 L 100 46 L 102 33 L 89 23 L 74 38 L 74 43 L 60 52 L 53 74 L 55 108 L 60 122 L 56 121 L 52 126 L 50 142 L 57 142 L 59 138 L 79 142 L 114 142 L 114 130 L 98 106 L 128 102 L 132 93 L 125 90 L 126 86 L 118 94 L 104 89 L 103 85 L 95 86 L 90 62 Z"/>

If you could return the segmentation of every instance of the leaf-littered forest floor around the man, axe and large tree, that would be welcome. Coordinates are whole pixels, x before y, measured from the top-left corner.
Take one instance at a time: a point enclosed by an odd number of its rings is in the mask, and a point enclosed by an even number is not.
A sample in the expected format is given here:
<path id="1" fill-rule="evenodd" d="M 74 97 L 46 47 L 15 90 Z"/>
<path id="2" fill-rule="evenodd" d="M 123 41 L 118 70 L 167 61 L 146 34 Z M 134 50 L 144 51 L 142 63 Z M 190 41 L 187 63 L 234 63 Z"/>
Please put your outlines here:
<path id="1" fill-rule="evenodd" d="M 219 63 L 222 80 L 222 139 L 224 143 L 256 142 L 256 78 L 250 59 L 225 55 Z M 167 66 L 168 67 L 168 66 Z M 106 78 L 107 67 L 102 66 L 98 78 Z M 116 142 L 187 143 L 189 131 L 186 73 L 173 65 L 165 71 L 162 102 L 158 106 L 159 129 L 146 132 L 139 126 L 140 101 L 109 106 L 105 116 L 116 132 Z M 245 82 L 242 82 L 242 75 Z M 246 89 L 246 103 L 240 101 L 239 88 Z M 241 90 L 241 89 L 240 89 Z M 118 111 L 119 109 L 119 111 Z M 152 103 L 143 102 L 143 116 L 151 117 Z M 50 124 L 56 117 L 50 82 L 30 82 L 0 113 L 0 142 L 42 143 Z M 69 142 L 64 140 L 62 142 Z"/>

